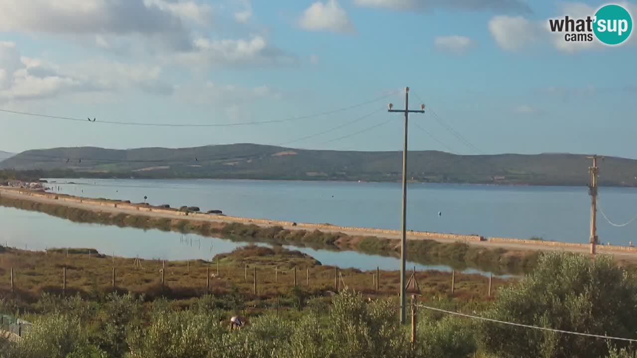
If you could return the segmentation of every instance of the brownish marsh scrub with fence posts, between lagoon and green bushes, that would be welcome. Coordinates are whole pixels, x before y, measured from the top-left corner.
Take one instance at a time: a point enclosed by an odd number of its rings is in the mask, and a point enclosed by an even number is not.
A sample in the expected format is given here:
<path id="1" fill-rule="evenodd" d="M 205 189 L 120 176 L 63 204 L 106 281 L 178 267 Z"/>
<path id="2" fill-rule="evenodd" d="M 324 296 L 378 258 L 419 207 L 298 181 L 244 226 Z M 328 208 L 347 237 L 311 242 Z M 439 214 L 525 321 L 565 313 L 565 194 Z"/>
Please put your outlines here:
<path id="1" fill-rule="evenodd" d="M 112 257 L 88 249 L 52 249 L 31 252 L 0 246 L 0 297 L 16 297 L 34 303 L 41 294 L 62 294 L 62 271 L 66 268 L 66 294 L 79 294 L 85 299 L 99 300 L 110 292 L 143 294 L 145 299 L 166 297 L 187 302 L 206 294 L 206 274 L 210 270 L 208 293 L 217 296 L 238 295 L 243 301 L 262 308 L 273 307 L 280 297 L 294 287 L 304 294 L 324 296 L 335 290 L 336 268 L 324 266 L 316 259 L 282 247 L 248 245 L 227 254 L 218 254 L 212 261 L 142 260 L 141 268 L 134 258 Z M 218 262 L 218 266 L 217 266 Z M 165 266 L 164 266 L 165 265 Z M 165 267 L 164 285 L 161 284 Z M 217 267 L 219 268 L 217 274 Z M 115 268 L 115 287 L 112 273 Z M 247 270 L 246 270 L 247 268 Z M 13 269 L 14 290 L 11 292 L 10 271 Z M 257 273 L 257 294 L 254 294 L 254 273 Z M 391 296 L 399 289 L 399 272 L 380 271 L 379 289 L 375 289 L 375 271 L 340 269 L 341 288 L 347 285 L 370 297 Z M 247 280 L 246 280 L 247 275 Z M 455 292 L 450 293 L 451 274 L 440 271 L 417 272 L 422 294 L 427 296 L 460 297 L 486 301 L 487 278 L 476 274 L 455 275 Z M 513 279 L 494 278 L 494 287 Z"/>

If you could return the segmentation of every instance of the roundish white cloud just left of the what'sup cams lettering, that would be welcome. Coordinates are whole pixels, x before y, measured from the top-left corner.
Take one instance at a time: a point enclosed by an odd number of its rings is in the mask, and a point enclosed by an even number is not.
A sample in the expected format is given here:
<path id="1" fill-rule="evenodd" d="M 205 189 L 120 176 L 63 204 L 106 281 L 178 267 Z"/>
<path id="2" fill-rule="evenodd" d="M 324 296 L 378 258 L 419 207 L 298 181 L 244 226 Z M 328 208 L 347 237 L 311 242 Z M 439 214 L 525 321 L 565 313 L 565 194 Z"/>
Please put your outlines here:
<path id="1" fill-rule="evenodd" d="M 505 50 L 517 51 L 538 40 L 538 26 L 521 16 L 492 17 L 488 27 L 497 45 Z"/>

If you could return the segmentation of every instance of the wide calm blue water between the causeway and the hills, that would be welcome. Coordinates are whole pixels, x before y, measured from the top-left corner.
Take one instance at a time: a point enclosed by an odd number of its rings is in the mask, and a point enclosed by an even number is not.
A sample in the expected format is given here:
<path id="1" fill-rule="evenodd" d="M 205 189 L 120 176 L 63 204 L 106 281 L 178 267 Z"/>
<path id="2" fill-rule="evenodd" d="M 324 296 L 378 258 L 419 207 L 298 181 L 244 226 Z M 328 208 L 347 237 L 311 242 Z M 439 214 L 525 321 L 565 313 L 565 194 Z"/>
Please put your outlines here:
<path id="1" fill-rule="evenodd" d="M 55 180 L 55 179 L 54 179 Z M 59 182 L 60 180 L 56 180 Z M 81 180 L 66 179 L 59 192 L 151 204 L 199 206 L 227 215 L 329 222 L 399 229 L 399 183 L 281 182 L 255 180 Z M 608 218 L 627 222 L 637 215 L 637 189 L 600 188 Z M 585 243 L 589 240 L 590 197 L 586 187 L 496 185 L 408 185 L 408 229 Z M 438 215 L 440 211 L 441 215 Z M 637 222 L 613 227 L 598 215 L 604 243 L 637 243 Z"/>

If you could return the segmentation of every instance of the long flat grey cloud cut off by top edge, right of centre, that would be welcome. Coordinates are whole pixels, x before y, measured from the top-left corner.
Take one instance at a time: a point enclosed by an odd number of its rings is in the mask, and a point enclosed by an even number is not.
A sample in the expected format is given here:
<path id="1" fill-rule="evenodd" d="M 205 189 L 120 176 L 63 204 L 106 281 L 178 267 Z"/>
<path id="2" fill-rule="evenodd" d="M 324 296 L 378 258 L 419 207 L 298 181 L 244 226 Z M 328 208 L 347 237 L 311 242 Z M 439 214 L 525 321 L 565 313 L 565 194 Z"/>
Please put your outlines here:
<path id="1" fill-rule="evenodd" d="M 440 8 L 467 11 L 531 12 L 529 5 L 523 0 L 354 0 L 354 3 L 359 6 L 402 11 L 431 11 Z"/>

